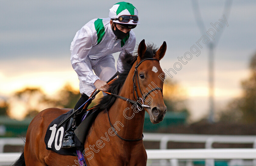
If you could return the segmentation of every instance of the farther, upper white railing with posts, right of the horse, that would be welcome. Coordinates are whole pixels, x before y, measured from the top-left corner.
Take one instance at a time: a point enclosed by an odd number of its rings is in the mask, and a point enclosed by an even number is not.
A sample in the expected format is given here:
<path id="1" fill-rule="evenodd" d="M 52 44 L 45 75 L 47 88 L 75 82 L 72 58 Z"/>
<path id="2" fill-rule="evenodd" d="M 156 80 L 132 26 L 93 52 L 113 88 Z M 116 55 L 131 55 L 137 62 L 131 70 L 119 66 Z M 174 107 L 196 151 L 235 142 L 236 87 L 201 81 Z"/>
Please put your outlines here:
<path id="1" fill-rule="evenodd" d="M 213 143 L 251 143 L 253 148 L 256 148 L 256 136 L 236 136 L 236 135 L 195 135 L 195 134 L 165 134 L 165 133 L 144 133 L 143 141 L 157 141 L 160 142 L 160 149 L 167 149 L 168 142 L 188 142 L 188 143 L 205 143 L 205 148 L 211 149 Z M 214 149 L 215 150 L 215 149 Z M 216 149 L 222 150 L 222 149 Z M 256 159 L 256 158 L 255 158 Z M 170 164 L 172 166 L 178 166 L 177 159 L 171 159 Z M 232 160 L 231 165 L 254 165 L 256 166 L 256 160 L 253 160 L 253 164 L 246 164 L 244 160 L 235 161 Z M 205 165 L 213 166 L 214 159 L 206 159 Z M 160 161 L 161 166 L 168 165 L 167 160 Z M 193 166 L 192 162 L 187 162 L 188 166 Z"/>

